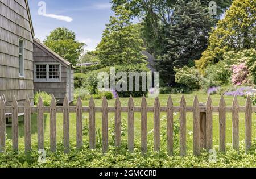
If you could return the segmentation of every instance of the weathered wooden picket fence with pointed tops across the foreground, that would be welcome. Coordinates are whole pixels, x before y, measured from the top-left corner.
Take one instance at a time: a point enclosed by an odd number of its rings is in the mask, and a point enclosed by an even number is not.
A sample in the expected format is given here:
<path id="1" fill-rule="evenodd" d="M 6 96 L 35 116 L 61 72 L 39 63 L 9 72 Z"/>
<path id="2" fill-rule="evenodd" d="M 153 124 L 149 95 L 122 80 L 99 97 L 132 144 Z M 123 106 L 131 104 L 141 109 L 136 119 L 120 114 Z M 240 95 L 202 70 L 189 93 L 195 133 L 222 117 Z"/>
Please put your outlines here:
<path id="1" fill-rule="evenodd" d="M 115 113 L 115 146 L 121 147 L 121 113 L 128 113 L 128 149 L 134 151 L 134 113 L 141 113 L 141 151 L 147 152 L 147 113 L 154 113 L 154 150 L 160 151 L 160 113 L 167 115 L 167 151 L 168 155 L 173 155 L 174 148 L 174 113 L 180 114 L 180 156 L 187 153 L 186 147 L 186 114 L 193 113 L 193 153 L 200 155 L 202 148 L 212 149 L 213 145 L 213 112 L 219 113 L 220 122 L 220 151 L 226 150 L 226 113 L 232 113 L 233 123 L 233 148 L 239 150 L 239 113 L 245 113 L 245 144 L 246 150 L 251 147 L 252 138 L 252 113 L 256 107 L 252 106 L 250 97 L 247 97 L 246 105 L 239 106 L 237 97 L 234 97 L 233 106 L 226 106 L 224 97 L 221 96 L 219 106 L 212 105 L 212 99 L 208 97 L 206 105 L 200 105 L 195 96 L 193 106 L 187 106 L 184 95 L 181 97 L 180 106 L 174 106 L 171 96 L 168 98 L 167 106 L 160 106 L 159 98 L 155 98 L 153 107 L 148 107 L 146 98 L 142 98 L 140 107 L 135 107 L 133 98 L 129 98 L 128 107 L 121 107 L 119 98 L 116 99 L 115 107 L 109 107 L 108 101 L 104 97 L 102 106 L 96 107 L 93 98 L 90 99 L 89 106 L 83 107 L 79 98 L 76 106 L 69 106 L 67 97 L 64 99 L 62 107 L 56 106 L 54 96 L 51 107 L 44 107 L 42 98 L 39 98 L 37 107 L 30 105 L 27 98 L 23 107 L 19 107 L 16 98 L 13 97 L 11 107 L 6 106 L 5 100 L 0 99 L 0 150 L 5 151 L 5 113 L 12 114 L 12 136 L 13 150 L 18 152 L 19 127 L 18 113 L 24 113 L 24 143 L 25 152 L 31 151 L 31 113 L 38 116 L 38 149 L 44 148 L 44 113 L 50 113 L 50 145 L 51 151 L 57 149 L 56 141 L 56 114 L 63 113 L 63 144 L 64 153 L 69 153 L 69 114 L 76 113 L 76 147 L 82 147 L 82 114 L 89 113 L 89 148 L 96 147 L 96 127 L 95 114 L 102 113 L 102 151 L 108 150 L 108 113 Z"/>

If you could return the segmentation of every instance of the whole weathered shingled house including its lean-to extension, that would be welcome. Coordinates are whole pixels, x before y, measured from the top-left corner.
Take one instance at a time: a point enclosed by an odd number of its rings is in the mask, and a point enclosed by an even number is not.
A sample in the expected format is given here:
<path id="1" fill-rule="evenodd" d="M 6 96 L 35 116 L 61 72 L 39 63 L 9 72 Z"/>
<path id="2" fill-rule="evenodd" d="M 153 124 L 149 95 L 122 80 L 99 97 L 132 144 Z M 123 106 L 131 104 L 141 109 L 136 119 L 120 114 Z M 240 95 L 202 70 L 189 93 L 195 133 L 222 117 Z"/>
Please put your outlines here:
<path id="1" fill-rule="evenodd" d="M 71 63 L 34 39 L 27 0 L 0 0 L 0 96 L 22 105 L 34 92 L 54 94 L 58 103 L 73 101 Z"/>

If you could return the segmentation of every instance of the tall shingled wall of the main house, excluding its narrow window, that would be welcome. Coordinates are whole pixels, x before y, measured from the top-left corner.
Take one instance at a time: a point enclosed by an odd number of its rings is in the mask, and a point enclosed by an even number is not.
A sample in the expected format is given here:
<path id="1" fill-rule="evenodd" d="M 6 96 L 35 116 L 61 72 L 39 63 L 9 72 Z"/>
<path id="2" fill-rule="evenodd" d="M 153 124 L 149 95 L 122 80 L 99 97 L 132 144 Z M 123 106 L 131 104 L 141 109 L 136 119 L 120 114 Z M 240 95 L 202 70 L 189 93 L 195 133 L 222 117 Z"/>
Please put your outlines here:
<path id="1" fill-rule="evenodd" d="M 33 34 L 26 0 L 0 0 L 0 95 L 19 103 L 33 94 Z M 19 39 L 24 41 L 24 77 L 19 76 Z"/>

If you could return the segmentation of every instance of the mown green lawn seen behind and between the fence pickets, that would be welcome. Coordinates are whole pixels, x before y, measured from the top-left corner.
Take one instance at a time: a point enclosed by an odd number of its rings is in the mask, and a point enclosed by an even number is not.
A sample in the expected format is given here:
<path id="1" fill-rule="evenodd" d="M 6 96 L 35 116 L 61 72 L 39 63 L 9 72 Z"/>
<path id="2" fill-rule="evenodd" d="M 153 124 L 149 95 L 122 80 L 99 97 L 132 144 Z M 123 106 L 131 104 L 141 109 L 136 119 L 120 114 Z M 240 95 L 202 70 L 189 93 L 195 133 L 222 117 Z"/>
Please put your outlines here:
<path id="1" fill-rule="evenodd" d="M 197 94 L 200 102 L 206 102 L 207 100 L 207 94 L 204 94 L 202 92 L 195 92 L 192 94 L 184 94 L 185 99 L 187 101 L 187 106 L 192 106 L 193 98 L 195 97 L 195 94 Z M 167 103 L 168 95 L 167 94 L 161 94 L 159 96 L 160 98 L 160 104 L 162 106 L 165 106 Z M 179 106 L 181 94 L 173 94 L 172 99 L 174 101 L 175 106 Z M 217 106 L 218 102 L 220 100 L 220 95 L 212 95 L 213 105 Z M 225 97 L 226 105 L 230 106 L 232 105 L 233 97 Z M 95 100 L 96 106 L 101 106 L 102 100 Z M 121 98 L 121 104 L 122 106 L 127 106 L 128 98 Z M 245 105 L 245 98 L 238 97 L 238 102 L 240 105 Z M 89 101 L 83 101 L 83 106 L 88 106 Z M 112 99 L 108 101 L 109 106 L 114 106 L 115 99 Z M 134 98 L 134 105 L 140 106 L 141 104 L 141 98 Z M 148 106 L 154 105 L 154 98 L 147 98 L 147 104 Z M 162 113 L 162 117 L 166 114 Z M 61 141 L 63 138 L 63 118 L 62 114 L 57 114 L 57 141 Z M 179 115 L 177 115 L 177 118 Z M 109 113 L 109 119 L 114 118 L 114 113 Z M 88 114 L 84 113 L 84 126 L 88 124 Z M 127 119 L 127 114 L 122 114 L 122 119 Z M 140 114 L 135 113 L 135 138 L 139 140 L 140 138 Z M 226 141 L 227 143 L 232 143 L 232 114 L 227 113 L 226 116 L 227 122 L 226 122 Z M 127 120 L 126 120 L 127 121 Z M 162 125 L 165 124 L 164 121 L 161 123 Z M 193 123 L 192 123 L 192 113 L 187 113 L 187 145 L 188 149 L 192 149 L 192 141 L 193 141 Z M 255 121 L 255 114 L 253 114 L 253 138 L 256 138 L 256 121 Z M 96 129 L 101 128 L 101 113 L 96 114 Z M 153 128 L 153 114 L 148 113 L 148 132 L 150 132 Z M 7 138 L 11 139 L 11 128 L 7 127 Z M 44 134 L 45 134 L 45 140 L 49 140 L 49 114 L 44 115 Z M 71 114 L 70 118 L 70 135 L 71 135 L 71 145 L 75 146 L 76 141 L 76 114 Z M 149 140 L 151 140 L 152 133 L 148 135 Z M 24 146 L 24 124 L 19 123 L 19 144 L 20 146 Z M 127 135 L 126 135 L 127 137 Z M 214 113 L 213 115 L 213 144 L 218 145 L 218 113 Z M 240 141 L 244 140 L 245 138 L 245 115 L 243 113 L 240 113 Z M 84 140 L 88 140 L 88 136 L 84 136 Z M 37 142 L 37 134 L 36 134 L 36 114 L 32 115 L 32 143 Z M 48 147 L 48 146 L 46 146 Z"/>

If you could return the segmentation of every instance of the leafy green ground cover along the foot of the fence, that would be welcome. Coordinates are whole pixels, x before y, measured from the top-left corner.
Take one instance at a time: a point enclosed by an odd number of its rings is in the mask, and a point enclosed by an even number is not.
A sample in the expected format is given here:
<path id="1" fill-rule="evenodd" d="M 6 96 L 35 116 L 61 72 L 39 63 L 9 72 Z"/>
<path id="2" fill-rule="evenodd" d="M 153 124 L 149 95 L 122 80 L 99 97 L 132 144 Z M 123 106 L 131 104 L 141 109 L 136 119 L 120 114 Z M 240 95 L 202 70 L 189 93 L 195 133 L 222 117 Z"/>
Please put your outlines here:
<path id="1" fill-rule="evenodd" d="M 46 140 L 46 160 L 39 163 L 39 154 L 36 150 L 37 146 L 33 143 L 31 153 L 19 154 L 11 150 L 11 140 L 6 141 L 6 152 L 0 153 L 0 167 L 24 167 L 24 168 L 84 168 L 84 167 L 255 167 L 256 166 L 256 139 L 253 140 L 251 150 L 245 153 L 245 142 L 240 142 L 240 152 L 232 149 L 232 144 L 227 144 L 226 153 L 217 152 L 216 156 L 207 151 L 201 152 L 199 157 L 193 156 L 193 151 L 187 151 L 187 156 L 179 156 L 179 118 L 174 114 L 174 156 L 168 156 L 166 150 L 166 116 L 160 120 L 161 123 L 161 151 L 154 152 L 153 135 L 154 132 L 148 132 L 148 152 L 141 154 L 140 139 L 135 139 L 135 150 L 129 152 L 127 150 L 127 120 L 123 120 L 122 125 L 122 147 L 117 149 L 114 147 L 114 119 L 110 120 L 109 128 L 109 149 L 108 152 L 102 154 L 102 138 L 101 130 L 97 128 L 96 132 L 96 149 L 89 149 L 88 140 L 84 140 L 84 147 L 80 150 L 75 148 L 75 143 L 71 144 L 71 152 L 67 155 L 63 153 L 63 143 L 57 144 L 57 152 L 49 151 L 49 140 Z M 88 122 L 86 123 L 86 126 Z M 88 135 L 88 127 L 84 128 L 84 135 Z M 191 135 L 189 134 L 189 137 Z M 214 139 L 214 141 L 217 139 Z M 218 146 L 213 146 L 218 151 Z M 24 151 L 24 147 L 20 146 L 20 151 Z M 216 157 L 216 160 L 210 160 Z"/>

